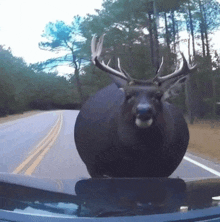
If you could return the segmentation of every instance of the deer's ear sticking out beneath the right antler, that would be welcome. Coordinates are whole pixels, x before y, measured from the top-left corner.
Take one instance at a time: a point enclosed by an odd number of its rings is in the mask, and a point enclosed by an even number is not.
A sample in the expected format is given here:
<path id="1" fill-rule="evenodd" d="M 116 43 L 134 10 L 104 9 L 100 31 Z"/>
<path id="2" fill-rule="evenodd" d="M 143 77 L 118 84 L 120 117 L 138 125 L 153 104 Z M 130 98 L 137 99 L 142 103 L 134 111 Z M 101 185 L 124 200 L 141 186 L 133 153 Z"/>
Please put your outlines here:
<path id="1" fill-rule="evenodd" d="M 187 76 L 184 76 L 175 81 L 163 94 L 162 100 L 172 99 L 177 97 L 183 89 L 183 86 L 187 80 Z"/>

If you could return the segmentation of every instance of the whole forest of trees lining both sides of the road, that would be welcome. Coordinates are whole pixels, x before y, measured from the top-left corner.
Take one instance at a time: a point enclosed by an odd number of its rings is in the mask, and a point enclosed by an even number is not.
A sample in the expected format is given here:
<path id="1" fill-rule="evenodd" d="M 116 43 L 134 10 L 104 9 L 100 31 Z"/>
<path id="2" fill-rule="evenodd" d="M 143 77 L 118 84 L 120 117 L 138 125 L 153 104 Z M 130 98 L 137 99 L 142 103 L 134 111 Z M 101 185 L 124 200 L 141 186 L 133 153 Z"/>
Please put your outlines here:
<path id="1" fill-rule="evenodd" d="M 189 121 L 220 115 L 220 58 L 213 34 L 220 26 L 216 0 L 103 0 L 96 14 L 73 16 L 72 23 L 50 22 L 39 48 L 54 58 L 27 65 L 0 47 L 0 116 L 33 109 L 79 109 L 97 90 L 111 83 L 90 62 L 90 42 L 105 33 L 102 59 L 111 59 L 135 79 L 152 78 L 164 58 L 164 75 L 175 71 L 185 54 L 197 64 L 185 90 L 172 102 Z M 62 56 L 57 56 L 62 54 Z M 59 76 L 59 66 L 73 73 Z"/>

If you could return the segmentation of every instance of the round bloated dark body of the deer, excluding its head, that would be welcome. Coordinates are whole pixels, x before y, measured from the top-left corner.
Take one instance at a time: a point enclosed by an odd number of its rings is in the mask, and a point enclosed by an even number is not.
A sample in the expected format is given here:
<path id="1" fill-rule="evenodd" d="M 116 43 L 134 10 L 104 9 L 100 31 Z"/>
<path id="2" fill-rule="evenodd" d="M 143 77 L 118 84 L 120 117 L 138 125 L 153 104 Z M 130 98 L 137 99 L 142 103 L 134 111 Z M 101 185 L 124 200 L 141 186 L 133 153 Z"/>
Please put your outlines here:
<path id="1" fill-rule="evenodd" d="M 186 152 L 189 132 L 181 112 L 162 102 L 150 128 L 120 116 L 123 93 L 115 84 L 91 97 L 75 125 L 75 142 L 92 177 L 167 177 Z"/>

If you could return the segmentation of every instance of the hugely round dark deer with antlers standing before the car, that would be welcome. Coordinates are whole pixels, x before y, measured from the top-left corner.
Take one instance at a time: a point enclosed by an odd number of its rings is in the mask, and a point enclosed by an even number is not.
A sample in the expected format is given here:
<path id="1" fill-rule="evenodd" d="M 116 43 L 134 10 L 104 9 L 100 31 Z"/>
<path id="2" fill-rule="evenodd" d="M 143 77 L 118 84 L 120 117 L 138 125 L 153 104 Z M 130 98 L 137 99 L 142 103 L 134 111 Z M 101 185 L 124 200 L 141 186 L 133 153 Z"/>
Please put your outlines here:
<path id="1" fill-rule="evenodd" d="M 182 65 L 168 75 L 163 59 L 152 79 L 138 80 L 118 59 L 118 70 L 100 55 L 104 35 L 91 41 L 92 62 L 113 83 L 82 106 L 75 123 L 76 149 L 92 178 L 169 177 L 182 161 L 189 130 L 180 109 L 167 102 L 178 96 L 196 70 L 183 53 Z"/>

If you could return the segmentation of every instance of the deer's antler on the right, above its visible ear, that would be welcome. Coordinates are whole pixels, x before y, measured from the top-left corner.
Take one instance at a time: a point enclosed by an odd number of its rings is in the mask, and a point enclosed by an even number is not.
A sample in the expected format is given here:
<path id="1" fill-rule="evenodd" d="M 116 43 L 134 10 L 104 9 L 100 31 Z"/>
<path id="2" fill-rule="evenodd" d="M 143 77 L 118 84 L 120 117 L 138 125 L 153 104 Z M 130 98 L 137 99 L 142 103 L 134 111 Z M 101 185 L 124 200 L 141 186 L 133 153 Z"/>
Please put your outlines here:
<path id="1" fill-rule="evenodd" d="M 183 63 L 182 63 L 182 66 L 180 67 L 179 70 L 177 70 L 177 71 L 175 71 L 175 72 L 173 72 L 169 75 L 166 75 L 166 76 L 160 76 L 161 75 L 160 70 L 161 70 L 161 67 L 163 65 L 163 63 L 162 63 L 161 66 L 160 66 L 159 72 L 154 77 L 153 81 L 162 83 L 162 82 L 165 82 L 169 79 L 179 77 L 179 76 L 182 76 L 182 75 L 187 75 L 188 73 L 194 72 L 196 70 L 197 65 L 194 65 L 193 67 L 189 67 L 183 53 L 181 53 L 181 55 L 182 55 L 182 58 L 183 58 Z"/>

